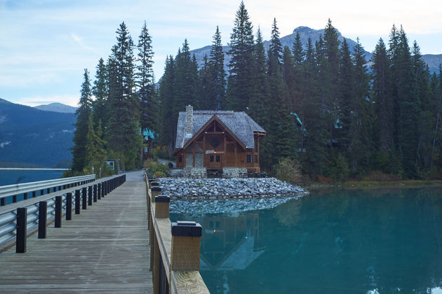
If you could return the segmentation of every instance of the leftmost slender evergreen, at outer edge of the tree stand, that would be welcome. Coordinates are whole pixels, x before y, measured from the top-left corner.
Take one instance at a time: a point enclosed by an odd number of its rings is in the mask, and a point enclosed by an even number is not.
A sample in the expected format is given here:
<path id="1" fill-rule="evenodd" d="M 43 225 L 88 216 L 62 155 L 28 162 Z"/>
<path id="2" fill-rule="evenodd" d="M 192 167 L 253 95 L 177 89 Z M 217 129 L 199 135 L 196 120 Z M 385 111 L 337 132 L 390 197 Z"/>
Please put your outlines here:
<path id="1" fill-rule="evenodd" d="M 79 108 L 76 109 L 76 123 L 75 123 L 75 132 L 74 138 L 74 146 L 71 148 L 72 151 L 72 171 L 74 172 L 83 172 L 83 169 L 86 167 L 86 144 L 88 134 L 88 120 L 89 114 L 91 113 L 91 80 L 89 79 L 89 72 L 87 69 L 84 69 L 83 74 L 83 83 L 81 84 L 81 95 L 79 101 Z"/>

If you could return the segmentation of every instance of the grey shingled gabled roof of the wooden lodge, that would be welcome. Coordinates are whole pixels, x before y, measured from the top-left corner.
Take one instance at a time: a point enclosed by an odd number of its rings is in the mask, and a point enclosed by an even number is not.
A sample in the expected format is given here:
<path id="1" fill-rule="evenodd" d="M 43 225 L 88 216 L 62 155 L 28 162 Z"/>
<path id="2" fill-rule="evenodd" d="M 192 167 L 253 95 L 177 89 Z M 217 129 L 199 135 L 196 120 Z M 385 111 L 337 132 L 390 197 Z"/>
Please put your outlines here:
<path id="1" fill-rule="evenodd" d="M 232 134 L 234 134 L 246 148 L 253 148 L 255 146 L 253 132 L 265 133 L 265 130 L 243 111 L 194 111 L 192 136 L 185 136 L 186 112 L 181 111 L 178 115 L 175 148 L 183 148 L 187 141 L 192 139 L 213 116 L 216 116 L 217 119 L 229 128 Z"/>

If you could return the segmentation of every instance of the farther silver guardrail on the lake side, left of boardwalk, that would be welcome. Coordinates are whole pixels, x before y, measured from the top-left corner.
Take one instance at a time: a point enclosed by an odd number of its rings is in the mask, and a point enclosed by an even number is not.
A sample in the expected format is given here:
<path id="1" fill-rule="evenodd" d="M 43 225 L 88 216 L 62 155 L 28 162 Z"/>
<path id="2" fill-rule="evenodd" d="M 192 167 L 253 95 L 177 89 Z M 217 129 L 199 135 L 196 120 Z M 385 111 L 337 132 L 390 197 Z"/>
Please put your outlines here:
<path id="1" fill-rule="evenodd" d="M 48 181 L 39 181 L 31 183 L 21 183 L 15 185 L 1 186 L 0 187 L 0 206 L 6 204 L 6 198 L 11 197 L 12 203 L 17 202 L 17 196 L 23 195 L 23 199 L 27 200 L 28 197 L 36 197 L 36 193 L 40 191 L 40 196 L 56 192 L 57 190 L 64 190 L 66 188 L 80 186 L 85 183 L 91 183 L 95 181 L 95 174 L 89 174 L 87 176 L 73 176 L 65 179 L 55 179 Z M 28 196 L 29 195 L 29 196 Z M 29 198 L 30 198 L 29 197 Z"/>

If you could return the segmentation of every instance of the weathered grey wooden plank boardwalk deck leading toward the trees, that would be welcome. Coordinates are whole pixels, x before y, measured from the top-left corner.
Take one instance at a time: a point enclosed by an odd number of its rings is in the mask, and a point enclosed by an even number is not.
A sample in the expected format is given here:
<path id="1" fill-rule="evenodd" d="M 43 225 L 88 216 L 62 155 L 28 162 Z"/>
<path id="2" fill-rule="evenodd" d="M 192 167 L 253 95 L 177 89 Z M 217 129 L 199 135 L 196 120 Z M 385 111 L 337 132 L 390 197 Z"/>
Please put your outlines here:
<path id="1" fill-rule="evenodd" d="M 152 293 L 146 188 L 123 183 L 91 207 L 0 253 L 0 293 Z"/>

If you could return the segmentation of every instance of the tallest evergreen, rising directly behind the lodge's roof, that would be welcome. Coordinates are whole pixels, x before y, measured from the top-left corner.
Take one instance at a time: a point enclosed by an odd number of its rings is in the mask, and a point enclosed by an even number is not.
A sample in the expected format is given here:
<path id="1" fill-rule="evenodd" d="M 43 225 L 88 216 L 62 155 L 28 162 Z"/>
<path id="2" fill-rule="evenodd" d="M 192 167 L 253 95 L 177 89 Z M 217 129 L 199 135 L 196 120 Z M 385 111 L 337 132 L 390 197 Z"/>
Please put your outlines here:
<path id="1" fill-rule="evenodd" d="M 234 28 L 230 35 L 232 59 L 229 62 L 227 79 L 227 108 L 234 111 L 245 111 L 250 104 L 250 97 L 255 95 L 253 73 L 253 26 L 243 1 L 236 12 Z"/>

